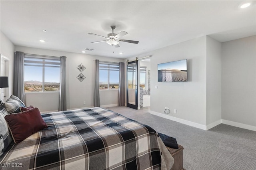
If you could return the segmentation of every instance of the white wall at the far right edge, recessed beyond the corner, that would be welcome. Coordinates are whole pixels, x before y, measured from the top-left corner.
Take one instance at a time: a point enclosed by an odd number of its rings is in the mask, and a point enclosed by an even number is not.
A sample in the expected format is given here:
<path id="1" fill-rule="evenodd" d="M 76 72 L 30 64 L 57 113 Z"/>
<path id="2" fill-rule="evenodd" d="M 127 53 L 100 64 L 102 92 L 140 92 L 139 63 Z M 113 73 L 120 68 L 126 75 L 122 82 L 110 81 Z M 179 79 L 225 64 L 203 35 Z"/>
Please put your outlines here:
<path id="1" fill-rule="evenodd" d="M 222 43 L 222 119 L 256 130 L 256 36 Z"/>

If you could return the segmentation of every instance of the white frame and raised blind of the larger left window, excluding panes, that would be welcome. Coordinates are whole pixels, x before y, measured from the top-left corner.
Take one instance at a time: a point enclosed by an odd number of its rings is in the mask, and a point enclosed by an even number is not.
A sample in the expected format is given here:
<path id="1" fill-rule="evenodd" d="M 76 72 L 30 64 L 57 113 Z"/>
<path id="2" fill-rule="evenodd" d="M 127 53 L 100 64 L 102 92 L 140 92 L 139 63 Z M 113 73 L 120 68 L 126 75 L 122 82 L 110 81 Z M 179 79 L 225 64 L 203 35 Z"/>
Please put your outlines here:
<path id="1" fill-rule="evenodd" d="M 26 59 L 28 59 L 28 60 L 26 61 Z M 37 59 L 37 60 L 40 59 L 42 61 L 33 61 L 33 60 L 29 60 L 29 59 Z M 39 65 L 39 64 L 42 64 L 42 65 Z M 58 66 L 56 66 L 56 65 L 58 65 Z M 60 90 L 45 91 L 45 89 L 44 89 L 44 87 L 45 87 L 45 67 L 60 68 L 60 57 L 24 54 L 24 70 L 25 70 L 26 66 L 42 67 L 42 91 L 31 91 L 31 92 L 25 92 L 25 93 L 29 93 L 29 94 L 30 93 L 60 93 Z M 59 72 L 59 74 L 60 74 L 60 72 Z M 25 88 L 25 83 L 24 83 L 24 88 Z"/>

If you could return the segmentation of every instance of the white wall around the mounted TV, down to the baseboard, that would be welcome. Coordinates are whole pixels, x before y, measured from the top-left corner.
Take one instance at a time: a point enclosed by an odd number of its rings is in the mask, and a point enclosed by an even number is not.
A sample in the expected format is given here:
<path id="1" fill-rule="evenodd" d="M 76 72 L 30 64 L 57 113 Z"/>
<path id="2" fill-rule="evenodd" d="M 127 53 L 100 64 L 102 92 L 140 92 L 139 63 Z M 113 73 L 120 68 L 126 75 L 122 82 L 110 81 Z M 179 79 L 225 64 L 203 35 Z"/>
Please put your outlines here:
<path id="1" fill-rule="evenodd" d="M 206 36 L 151 51 L 151 113 L 206 125 Z M 158 82 L 159 63 L 188 59 L 187 82 Z M 155 86 L 158 85 L 158 89 Z M 177 113 L 174 113 L 177 109 Z"/>

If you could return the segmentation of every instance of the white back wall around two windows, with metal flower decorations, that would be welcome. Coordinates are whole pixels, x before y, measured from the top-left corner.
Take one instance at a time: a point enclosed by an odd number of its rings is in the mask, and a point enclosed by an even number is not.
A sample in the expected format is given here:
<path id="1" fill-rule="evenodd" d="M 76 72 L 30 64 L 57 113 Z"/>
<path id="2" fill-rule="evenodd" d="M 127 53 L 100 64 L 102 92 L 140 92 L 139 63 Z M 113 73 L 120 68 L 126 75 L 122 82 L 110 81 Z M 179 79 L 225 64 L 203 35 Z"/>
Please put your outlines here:
<path id="1" fill-rule="evenodd" d="M 67 66 L 67 108 L 76 109 L 83 107 L 94 106 L 94 81 L 95 81 L 95 59 L 100 61 L 123 62 L 123 59 L 116 59 L 110 57 L 101 57 L 96 55 L 87 55 L 80 53 L 69 53 L 64 51 L 54 51 L 46 49 L 37 49 L 30 47 L 16 46 L 15 51 L 22 51 L 24 53 L 52 55 L 52 56 L 66 56 Z M 86 77 L 84 81 L 80 82 L 76 78 L 81 72 L 76 68 L 79 64 L 83 64 L 86 69 L 82 74 Z M 116 105 L 117 106 L 118 90 L 100 91 L 100 104 Z M 52 102 L 50 102 L 52 101 Z M 55 101 L 55 102 L 54 102 Z M 33 105 L 38 107 L 42 112 L 58 110 L 58 94 L 43 93 L 43 94 L 29 94 L 26 93 L 26 105 Z M 86 102 L 86 105 L 83 102 Z"/>

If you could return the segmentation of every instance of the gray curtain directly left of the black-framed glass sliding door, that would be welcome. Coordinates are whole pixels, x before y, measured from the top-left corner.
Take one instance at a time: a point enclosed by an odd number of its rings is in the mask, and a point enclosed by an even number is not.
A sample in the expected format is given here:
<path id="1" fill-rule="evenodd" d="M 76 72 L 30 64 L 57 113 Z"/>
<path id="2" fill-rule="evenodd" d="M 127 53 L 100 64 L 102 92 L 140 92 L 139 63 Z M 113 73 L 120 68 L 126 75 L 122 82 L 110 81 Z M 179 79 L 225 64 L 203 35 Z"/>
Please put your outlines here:
<path id="1" fill-rule="evenodd" d="M 125 105 L 124 63 L 119 63 L 118 106 L 124 106 L 124 105 Z"/>

